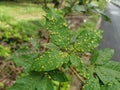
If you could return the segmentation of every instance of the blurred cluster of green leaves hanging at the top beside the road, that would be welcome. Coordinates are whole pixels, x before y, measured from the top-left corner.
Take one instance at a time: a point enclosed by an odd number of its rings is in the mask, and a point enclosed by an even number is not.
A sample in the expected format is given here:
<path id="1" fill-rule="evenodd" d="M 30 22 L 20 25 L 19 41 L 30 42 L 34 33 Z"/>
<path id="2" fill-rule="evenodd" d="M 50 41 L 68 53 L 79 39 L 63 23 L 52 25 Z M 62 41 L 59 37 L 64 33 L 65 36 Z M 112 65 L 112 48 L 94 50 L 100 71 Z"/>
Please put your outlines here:
<path id="1" fill-rule="evenodd" d="M 104 20 L 111 22 L 111 19 L 103 12 L 106 1 L 99 0 L 68 0 L 68 5 L 64 7 L 66 14 L 71 12 L 77 13 L 86 13 L 89 14 L 98 14 Z M 102 10 L 102 11 L 101 11 Z"/>

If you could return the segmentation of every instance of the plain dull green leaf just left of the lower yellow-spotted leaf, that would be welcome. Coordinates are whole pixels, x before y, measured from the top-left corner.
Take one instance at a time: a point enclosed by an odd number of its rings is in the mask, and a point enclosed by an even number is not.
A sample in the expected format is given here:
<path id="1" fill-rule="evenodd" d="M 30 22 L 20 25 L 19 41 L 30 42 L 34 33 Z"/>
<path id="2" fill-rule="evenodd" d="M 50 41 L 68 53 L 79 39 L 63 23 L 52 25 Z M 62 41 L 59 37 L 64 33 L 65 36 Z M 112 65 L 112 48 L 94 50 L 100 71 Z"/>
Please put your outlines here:
<path id="1" fill-rule="evenodd" d="M 22 47 L 13 53 L 11 59 L 16 63 L 17 66 L 22 66 L 25 72 L 29 72 L 32 63 L 38 54 L 38 52 L 34 52 L 27 47 Z"/>

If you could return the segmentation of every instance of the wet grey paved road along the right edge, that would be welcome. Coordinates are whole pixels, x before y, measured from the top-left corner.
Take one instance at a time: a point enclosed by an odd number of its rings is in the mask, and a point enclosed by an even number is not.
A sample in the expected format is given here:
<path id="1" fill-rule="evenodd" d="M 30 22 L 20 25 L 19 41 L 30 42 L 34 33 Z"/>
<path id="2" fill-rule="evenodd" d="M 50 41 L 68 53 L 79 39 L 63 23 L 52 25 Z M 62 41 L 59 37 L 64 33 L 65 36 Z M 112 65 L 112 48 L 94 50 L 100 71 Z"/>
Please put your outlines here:
<path id="1" fill-rule="evenodd" d="M 99 49 L 112 48 L 115 53 L 112 60 L 120 61 L 120 7 L 108 2 L 105 13 L 112 22 L 102 21 L 101 29 L 104 31 Z"/>

